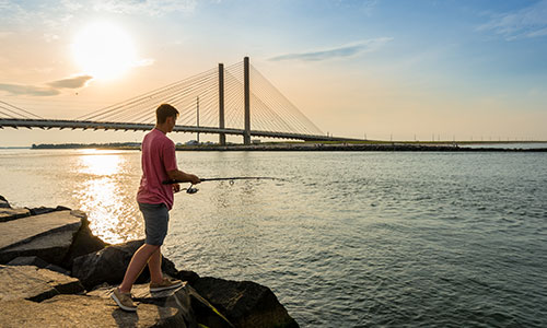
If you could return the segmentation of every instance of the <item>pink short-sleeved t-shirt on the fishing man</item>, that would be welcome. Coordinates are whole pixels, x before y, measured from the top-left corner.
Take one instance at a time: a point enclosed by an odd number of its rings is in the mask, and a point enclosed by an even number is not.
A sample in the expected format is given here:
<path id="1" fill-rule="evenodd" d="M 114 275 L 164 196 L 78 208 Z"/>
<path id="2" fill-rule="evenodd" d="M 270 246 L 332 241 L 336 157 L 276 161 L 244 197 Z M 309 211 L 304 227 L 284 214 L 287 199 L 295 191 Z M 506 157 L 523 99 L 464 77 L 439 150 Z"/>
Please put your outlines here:
<path id="1" fill-rule="evenodd" d="M 142 140 L 142 177 L 137 201 L 143 203 L 164 203 L 173 208 L 173 187 L 163 185 L 168 179 L 167 172 L 177 169 L 175 143 L 162 131 L 153 129 Z"/>

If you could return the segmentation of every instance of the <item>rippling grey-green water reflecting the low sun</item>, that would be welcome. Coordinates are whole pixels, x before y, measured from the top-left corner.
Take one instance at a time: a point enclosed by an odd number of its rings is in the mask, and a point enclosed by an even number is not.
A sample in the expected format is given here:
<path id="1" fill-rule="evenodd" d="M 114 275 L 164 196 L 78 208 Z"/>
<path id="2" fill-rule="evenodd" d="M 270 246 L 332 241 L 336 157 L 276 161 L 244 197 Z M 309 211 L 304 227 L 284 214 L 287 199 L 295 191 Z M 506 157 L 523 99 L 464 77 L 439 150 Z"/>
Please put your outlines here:
<path id="1" fill-rule="evenodd" d="M 0 195 L 142 237 L 133 151 L 0 151 Z M 302 327 L 546 327 L 547 154 L 177 153 L 163 248 L 178 269 L 268 285 Z"/>

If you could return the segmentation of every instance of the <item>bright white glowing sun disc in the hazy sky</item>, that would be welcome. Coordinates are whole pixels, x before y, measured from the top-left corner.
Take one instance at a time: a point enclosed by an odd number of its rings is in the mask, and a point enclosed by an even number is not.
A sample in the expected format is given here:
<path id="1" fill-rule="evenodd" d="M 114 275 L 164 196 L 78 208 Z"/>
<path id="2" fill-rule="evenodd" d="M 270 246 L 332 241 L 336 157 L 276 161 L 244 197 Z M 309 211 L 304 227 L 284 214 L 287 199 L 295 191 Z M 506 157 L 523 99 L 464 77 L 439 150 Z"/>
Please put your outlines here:
<path id="1" fill-rule="evenodd" d="M 102 80 L 119 78 L 137 62 L 131 37 L 107 22 L 96 22 L 80 31 L 72 43 L 72 55 L 83 73 Z"/>

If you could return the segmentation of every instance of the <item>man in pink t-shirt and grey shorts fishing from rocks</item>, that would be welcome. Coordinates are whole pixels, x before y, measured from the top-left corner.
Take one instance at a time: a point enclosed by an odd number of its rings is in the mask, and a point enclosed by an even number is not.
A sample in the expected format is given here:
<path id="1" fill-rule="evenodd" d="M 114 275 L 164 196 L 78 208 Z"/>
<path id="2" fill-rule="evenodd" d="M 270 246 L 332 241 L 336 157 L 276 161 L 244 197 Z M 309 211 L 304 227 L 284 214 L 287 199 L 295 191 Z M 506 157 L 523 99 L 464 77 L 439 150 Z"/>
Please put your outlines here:
<path id="1" fill-rule="evenodd" d="M 182 285 L 179 280 L 171 280 L 162 273 L 161 246 L 167 235 L 168 211 L 173 208 L 174 192 L 181 190 L 178 184 L 162 184 L 171 179 L 181 183 L 199 184 L 194 174 L 178 169 L 175 156 L 175 143 L 167 138 L 173 131 L 178 110 L 168 104 L 162 104 L 155 110 L 156 124 L 142 140 L 142 177 L 137 201 L 144 218 L 146 241 L 133 254 L 121 284 L 113 290 L 112 298 L 124 311 L 135 312 L 137 306 L 131 300 L 131 288 L 148 263 L 150 270 L 150 291 L 159 292 Z"/>

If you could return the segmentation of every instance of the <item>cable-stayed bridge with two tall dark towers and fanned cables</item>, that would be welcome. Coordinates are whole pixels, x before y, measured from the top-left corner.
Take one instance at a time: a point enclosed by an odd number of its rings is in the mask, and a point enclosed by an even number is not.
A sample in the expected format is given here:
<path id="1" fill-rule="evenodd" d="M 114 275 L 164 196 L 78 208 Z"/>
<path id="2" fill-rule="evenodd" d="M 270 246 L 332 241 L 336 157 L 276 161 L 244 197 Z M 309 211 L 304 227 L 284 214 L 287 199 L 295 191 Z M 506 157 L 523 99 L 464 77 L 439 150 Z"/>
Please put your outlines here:
<path id="1" fill-rule="evenodd" d="M 74 119 L 47 119 L 0 101 L 0 128 L 151 130 L 155 108 L 168 103 L 179 112 L 175 132 L 218 133 L 305 141 L 339 141 L 325 136 L 245 57 L 243 61 L 177 81 Z"/>

